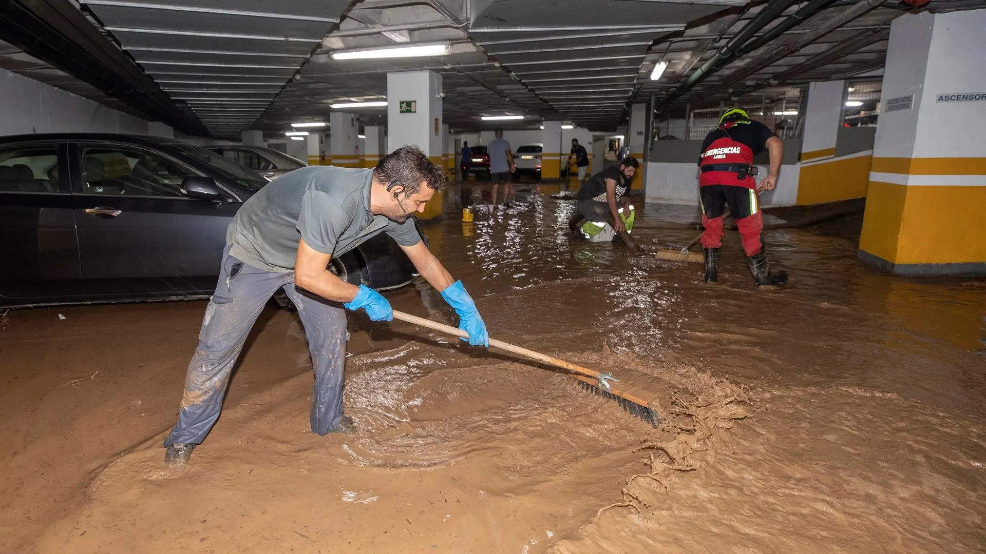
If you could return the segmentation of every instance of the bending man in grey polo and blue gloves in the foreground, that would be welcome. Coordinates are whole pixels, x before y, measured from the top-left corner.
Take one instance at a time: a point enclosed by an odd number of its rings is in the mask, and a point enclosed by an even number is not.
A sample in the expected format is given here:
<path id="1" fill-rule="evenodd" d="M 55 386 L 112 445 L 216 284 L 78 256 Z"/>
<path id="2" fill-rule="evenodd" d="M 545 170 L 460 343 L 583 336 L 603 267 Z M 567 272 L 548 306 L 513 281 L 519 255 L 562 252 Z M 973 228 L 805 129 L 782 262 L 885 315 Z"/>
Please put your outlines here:
<path id="1" fill-rule="evenodd" d="M 303 168 L 274 179 L 246 200 L 227 230 L 219 283 L 188 364 L 178 421 L 165 439 L 170 469 L 185 467 L 219 419 L 246 335 L 282 287 L 298 307 L 315 367 L 312 431 L 321 436 L 354 431 L 352 420 L 342 414 L 342 308 L 365 310 L 374 321 L 391 320 L 393 310 L 373 289 L 351 285 L 327 267 L 332 256 L 380 233 L 397 242 L 421 276 L 456 309 L 458 328 L 468 334 L 469 344 L 489 346 L 486 325 L 469 294 L 428 250 L 408 217 L 424 211 L 445 186 L 441 168 L 416 146 L 404 146 L 376 169 Z"/>

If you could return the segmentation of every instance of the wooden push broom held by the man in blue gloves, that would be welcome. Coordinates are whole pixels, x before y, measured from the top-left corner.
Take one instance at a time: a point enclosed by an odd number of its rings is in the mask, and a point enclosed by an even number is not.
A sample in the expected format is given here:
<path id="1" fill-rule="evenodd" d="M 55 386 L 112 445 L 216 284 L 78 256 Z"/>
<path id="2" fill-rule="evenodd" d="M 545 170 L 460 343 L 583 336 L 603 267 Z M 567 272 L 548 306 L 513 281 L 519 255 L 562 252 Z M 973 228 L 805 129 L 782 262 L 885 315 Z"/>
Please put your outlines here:
<path id="1" fill-rule="evenodd" d="M 417 315 L 411 315 L 410 313 L 397 312 L 394 310 L 393 318 L 406 321 L 408 323 L 414 323 L 415 325 L 421 325 L 422 327 L 428 327 L 429 329 L 455 335 L 461 338 L 469 338 L 469 334 L 467 332 L 457 327 L 432 321 L 431 319 L 425 319 L 424 317 L 418 317 Z M 567 370 L 571 372 L 573 378 L 580 381 L 579 384 L 586 391 L 592 392 L 597 396 L 615 400 L 619 403 L 620 407 L 623 408 L 623 411 L 626 411 L 635 417 L 639 417 L 654 427 L 657 427 L 658 423 L 661 423 L 661 416 L 655 409 L 658 405 L 658 394 L 656 392 L 651 392 L 644 388 L 629 384 L 623 384 L 622 381 L 614 378 L 611 374 L 604 374 L 590 368 L 583 368 L 582 366 L 577 366 L 564 360 L 552 358 L 546 354 L 541 354 L 539 352 L 534 352 L 533 350 L 528 350 L 527 348 L 508 344 L 502 340 L 491 338 L 490 346 L 493 348 L 499 348 L 500 350 L 505 350 L 511 354 L 523 356 L 542 364 Z M 617 382 L 619 384 L 617 384 Z"/>

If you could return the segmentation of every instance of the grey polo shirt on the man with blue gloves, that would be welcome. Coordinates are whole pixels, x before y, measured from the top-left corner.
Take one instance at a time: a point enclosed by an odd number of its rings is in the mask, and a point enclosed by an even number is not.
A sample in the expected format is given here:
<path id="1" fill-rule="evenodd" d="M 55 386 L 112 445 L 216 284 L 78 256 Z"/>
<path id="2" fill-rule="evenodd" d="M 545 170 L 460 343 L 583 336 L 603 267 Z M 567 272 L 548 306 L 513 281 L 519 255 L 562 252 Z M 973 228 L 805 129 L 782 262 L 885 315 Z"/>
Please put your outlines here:
<path id="1" fill-rule="evenodd" d="M 372 182 L 373 170 L 326 166 L 277 177 L 246 200 L 230 223 L 230 255 L 257 269 L 290 273 L 301 239 L 333 256 L 382 231 L 404 246 L 420 242 L 411 218 L 401 224 L 370 213 Z"/>

